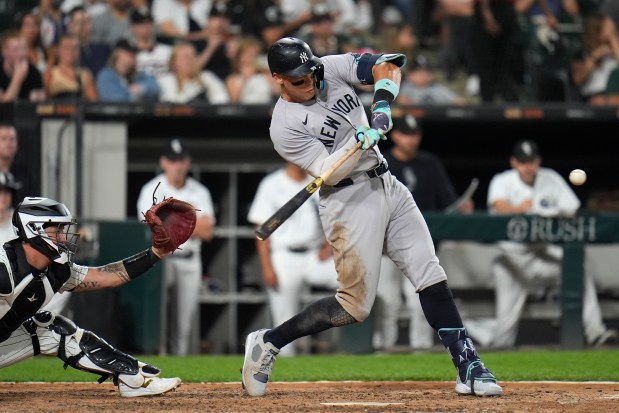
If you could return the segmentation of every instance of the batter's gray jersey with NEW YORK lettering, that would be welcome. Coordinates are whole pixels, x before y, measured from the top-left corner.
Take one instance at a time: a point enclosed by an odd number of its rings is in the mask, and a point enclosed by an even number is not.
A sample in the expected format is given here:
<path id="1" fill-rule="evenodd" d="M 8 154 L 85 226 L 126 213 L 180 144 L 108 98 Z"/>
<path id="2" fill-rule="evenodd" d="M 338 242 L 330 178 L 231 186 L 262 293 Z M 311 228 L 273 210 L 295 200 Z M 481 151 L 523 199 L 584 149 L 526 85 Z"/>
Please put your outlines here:
<path id="1" fill-rule="evenodd" d="M 361 84 L 357 77 L 356 55 L 331 55 L 320 59 L 325 71 L 324 89 L 315 89 L 315 98 L 302 103 L 280 97 L 271 118 L 270 133 L 275 150 L 305 170 L 325 149 L 333 153 L 354 136 L 357 127 L 369 125 L 365 108 L 353 88 Z M 365 151 L 349 175 L 376 167 L 382 158 L 376 146 L 372 151 Z"/>

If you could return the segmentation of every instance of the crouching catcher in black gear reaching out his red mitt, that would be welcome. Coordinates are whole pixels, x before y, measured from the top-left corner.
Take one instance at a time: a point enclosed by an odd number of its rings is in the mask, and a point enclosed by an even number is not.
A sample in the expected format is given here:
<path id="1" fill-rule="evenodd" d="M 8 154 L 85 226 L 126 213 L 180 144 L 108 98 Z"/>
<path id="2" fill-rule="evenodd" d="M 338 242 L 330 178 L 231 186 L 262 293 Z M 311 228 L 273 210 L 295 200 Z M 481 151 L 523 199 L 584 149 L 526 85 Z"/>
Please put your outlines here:
<path id="1" fill-rule="evenodd" d="M 179 378 L 158 377 L 157 367 L 68 318 L 41 311 L 55 294 L 111 288 L 137 278 L 191 234 L 191 213 L 176 200 L 154 205 L 152 215 L 156 245 L 118 262 L 86 267 L 71 260 L 79 235 L 64 204 L 48 198 L 19 204 L 12 221 L 16 238 L 0 248 L 0 368 L 43 354 L 60 358 L 65 367 L 98 374 L 100 382 L 111 377 L 123 397 L 162 394 L 180 385 Z"/>

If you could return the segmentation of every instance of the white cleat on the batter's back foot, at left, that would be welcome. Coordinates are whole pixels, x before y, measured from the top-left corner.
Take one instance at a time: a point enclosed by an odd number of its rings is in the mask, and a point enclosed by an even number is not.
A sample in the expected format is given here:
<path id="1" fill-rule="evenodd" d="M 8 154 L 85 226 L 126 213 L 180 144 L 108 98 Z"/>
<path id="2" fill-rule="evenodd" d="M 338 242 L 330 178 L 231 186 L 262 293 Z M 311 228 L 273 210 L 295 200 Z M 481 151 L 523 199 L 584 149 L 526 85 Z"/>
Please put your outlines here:
<path id="1" fill-rule="evenodd" d="M 245 340 L 243 388 L 250 396 L 264 396 L 271 376 L 275 356 L 279 354 L 271 343 L 264 342 L 267 329 L 254 331 Z"/>

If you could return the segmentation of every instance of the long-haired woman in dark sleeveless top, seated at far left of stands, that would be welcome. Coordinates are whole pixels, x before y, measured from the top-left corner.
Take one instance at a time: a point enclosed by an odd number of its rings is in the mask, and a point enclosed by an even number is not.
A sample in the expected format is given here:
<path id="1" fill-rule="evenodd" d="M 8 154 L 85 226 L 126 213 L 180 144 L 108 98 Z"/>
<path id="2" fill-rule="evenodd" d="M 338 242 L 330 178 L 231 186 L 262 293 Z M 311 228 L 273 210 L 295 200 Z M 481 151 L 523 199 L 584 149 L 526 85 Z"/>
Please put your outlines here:
<path id="1" fill-rule="evenodd" d="M 58 42 L 58 63 L 43 73 L 43 85 L 48 99 L 83 98 L 97 100 L 95 83 L 86 68 L 78 66 L 79 46 L 75 37 L 64 35 Z"/>

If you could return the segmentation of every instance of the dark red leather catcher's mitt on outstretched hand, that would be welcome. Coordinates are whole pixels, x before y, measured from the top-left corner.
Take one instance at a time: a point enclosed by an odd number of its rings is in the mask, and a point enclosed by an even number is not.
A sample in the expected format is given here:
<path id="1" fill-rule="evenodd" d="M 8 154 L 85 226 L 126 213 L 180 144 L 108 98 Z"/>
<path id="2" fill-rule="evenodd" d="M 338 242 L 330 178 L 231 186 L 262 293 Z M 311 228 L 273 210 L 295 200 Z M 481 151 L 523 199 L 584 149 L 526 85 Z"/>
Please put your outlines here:
<path id="1" fill-rule="evenodd" d="M 165 252 L 174 252 L 189 239 L 196 227 L 196 209 L 188 202 L 165 198 L 144 214 L 150 227 L 153 246 Z"/>

